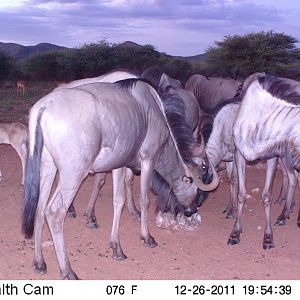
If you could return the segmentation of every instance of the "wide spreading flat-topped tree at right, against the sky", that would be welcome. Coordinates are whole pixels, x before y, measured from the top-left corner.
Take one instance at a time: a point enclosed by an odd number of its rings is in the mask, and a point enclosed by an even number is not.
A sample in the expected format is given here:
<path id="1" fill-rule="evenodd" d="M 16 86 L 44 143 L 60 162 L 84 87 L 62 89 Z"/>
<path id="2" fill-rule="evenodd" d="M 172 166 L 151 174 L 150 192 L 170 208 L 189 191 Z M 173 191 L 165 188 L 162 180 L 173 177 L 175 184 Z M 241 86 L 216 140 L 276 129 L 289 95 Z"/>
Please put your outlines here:
<path id="1" fill-rule="evenodd" d="M 206 51 L 209 73 L 236 77 L 254 72 L 280 74 L 283 66 L 299 59 L 296 38 L 273 31 L 225 36 Z"/>

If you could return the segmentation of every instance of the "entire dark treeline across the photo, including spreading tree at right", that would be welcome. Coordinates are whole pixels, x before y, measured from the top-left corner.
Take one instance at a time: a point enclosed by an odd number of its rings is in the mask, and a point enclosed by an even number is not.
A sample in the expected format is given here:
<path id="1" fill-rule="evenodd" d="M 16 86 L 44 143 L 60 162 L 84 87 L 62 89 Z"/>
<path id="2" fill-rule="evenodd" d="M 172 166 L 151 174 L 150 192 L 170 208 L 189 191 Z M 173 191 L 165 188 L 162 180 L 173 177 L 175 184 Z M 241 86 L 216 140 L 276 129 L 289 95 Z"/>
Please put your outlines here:
<path id="1" fill-rule="evenodd" d="M 0 79 L 71 81 L 99 76 L 114 69 L 141 73 L 152 68 L 183 82 L 194 73 L 245 78 L 262 71 L 300 80 L 297 42 L 290 35 L 272 31 L 226 36 L 207 49 L 204 61 L 172 57 L 156 51 L 151 45 L 110 44 L 107 41 L 34 54 L 24 61 L 16 61 L 0 52 Z"/>

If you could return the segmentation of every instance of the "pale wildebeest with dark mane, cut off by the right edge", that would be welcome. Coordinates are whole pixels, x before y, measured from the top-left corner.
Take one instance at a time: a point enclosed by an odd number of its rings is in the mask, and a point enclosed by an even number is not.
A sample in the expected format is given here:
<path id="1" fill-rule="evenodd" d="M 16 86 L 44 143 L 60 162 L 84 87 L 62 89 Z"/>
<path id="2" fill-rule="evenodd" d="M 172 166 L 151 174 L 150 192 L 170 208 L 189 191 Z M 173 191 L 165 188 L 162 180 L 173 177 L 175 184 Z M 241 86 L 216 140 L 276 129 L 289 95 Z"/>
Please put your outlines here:
<path id="1" fill-rule="evenodd" d="M 300 170 L 299 104 L 300 83 L 290 79 L 261 76 L 246 91 L 233 129 L 239 191 L 236 222 L 228 240 L 231 245 L 239 243 L 242 229 L 242 210 L 246 198 L 244 159 L 254 161 L 279 157 L 291 179 L 295 177 L 294 170 Z M 279 222 L 284 223 L 288 218 L 291 199 L 287 197 Z M 271 199 L 268 195 L 263 198 L 263 205 L 266 216 L 263 248 L 269 249 L 274 247 L 274 242 L 270 223 Z"/>

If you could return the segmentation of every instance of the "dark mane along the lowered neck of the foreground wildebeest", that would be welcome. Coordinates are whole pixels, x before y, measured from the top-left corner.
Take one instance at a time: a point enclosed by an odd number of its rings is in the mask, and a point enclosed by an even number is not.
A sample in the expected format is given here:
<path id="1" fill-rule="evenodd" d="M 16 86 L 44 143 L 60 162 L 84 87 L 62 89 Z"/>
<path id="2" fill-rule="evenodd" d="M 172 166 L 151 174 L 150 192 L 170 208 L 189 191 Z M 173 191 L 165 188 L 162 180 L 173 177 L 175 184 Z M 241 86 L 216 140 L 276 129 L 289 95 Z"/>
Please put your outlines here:
<path id="1" fill-rule="evenodd" d="M 193 130 L 186 122 L 185 107 L 176 93 L 164 93 L 163 109 L 184 163 L 195 165 L 192 149 L 195 146 Z"/>

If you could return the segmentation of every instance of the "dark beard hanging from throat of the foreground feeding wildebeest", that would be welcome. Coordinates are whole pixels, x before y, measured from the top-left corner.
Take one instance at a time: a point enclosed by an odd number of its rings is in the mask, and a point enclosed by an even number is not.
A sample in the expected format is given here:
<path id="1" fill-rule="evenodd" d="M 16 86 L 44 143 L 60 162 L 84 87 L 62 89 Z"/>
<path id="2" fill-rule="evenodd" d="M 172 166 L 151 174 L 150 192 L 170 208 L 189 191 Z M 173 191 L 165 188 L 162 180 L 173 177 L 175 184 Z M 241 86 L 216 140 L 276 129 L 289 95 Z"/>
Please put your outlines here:
<path id="1" fill-rule="evenodd" d="M 156 170 L 153 171 L 151 190 L 157 198 L 156 211 L 171 211 L 174 214 L 184 212 L 184 205 L 177 200 L 169 183 Z"/>

